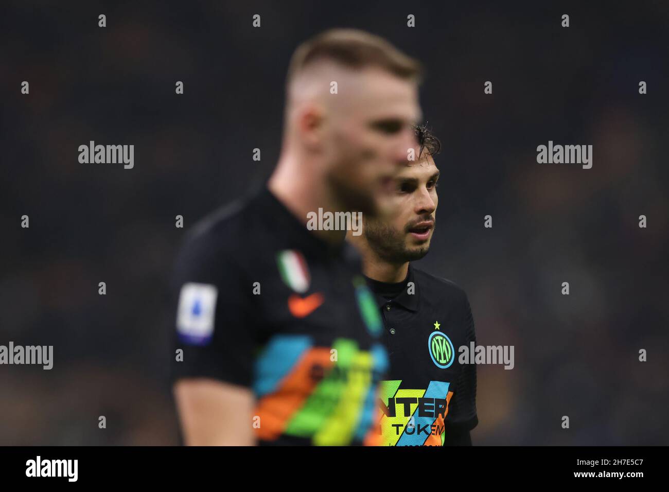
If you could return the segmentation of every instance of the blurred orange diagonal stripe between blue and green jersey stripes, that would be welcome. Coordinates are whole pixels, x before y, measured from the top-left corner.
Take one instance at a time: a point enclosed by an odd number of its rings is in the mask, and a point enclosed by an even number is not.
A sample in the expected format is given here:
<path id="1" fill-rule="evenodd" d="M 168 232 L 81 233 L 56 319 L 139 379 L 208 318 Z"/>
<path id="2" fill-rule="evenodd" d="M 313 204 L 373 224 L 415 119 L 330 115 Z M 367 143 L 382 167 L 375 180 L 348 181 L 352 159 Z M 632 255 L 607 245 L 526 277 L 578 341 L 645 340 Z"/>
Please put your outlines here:
<path id="1" fill-rule="evenodd" d="M 284 432 L 290 418 L 302 407 L 304 400 L 320 382 L 311 374 L 314 365 L 328 370 L 332 365 L 330 349 L 309 349 L 282 380 L 276 392 L 258 400 L 254 412 L 254 415 L 260 417 L 260 428 L 254 428 L 258 439 L 274 440 Z"/>

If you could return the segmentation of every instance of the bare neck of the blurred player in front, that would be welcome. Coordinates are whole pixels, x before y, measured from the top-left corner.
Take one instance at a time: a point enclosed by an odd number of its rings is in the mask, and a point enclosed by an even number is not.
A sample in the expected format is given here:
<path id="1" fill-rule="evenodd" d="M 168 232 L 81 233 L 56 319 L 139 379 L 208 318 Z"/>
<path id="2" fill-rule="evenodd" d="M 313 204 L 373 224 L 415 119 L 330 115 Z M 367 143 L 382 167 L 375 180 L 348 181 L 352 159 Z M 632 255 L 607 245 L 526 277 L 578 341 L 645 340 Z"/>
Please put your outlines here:
<path id="1" fill-rule="evenodd" d="M 310 169 L 313 166 L 302 166 Z M 268 188 L 288 210 L 304 224 L 308 222 L 310 212 L 318 213 L 318 208 L 325 211 L 339 210 L 337 203 L 325 186 L 324 180 L 318 176 L 302 172 L 296 162 L 289 157 L 279 160 L 274 173 L 268 181 Z M 345 240 L 345 231 L 313 230 L 316 236 L 330 244 L 341 244 Z"/>

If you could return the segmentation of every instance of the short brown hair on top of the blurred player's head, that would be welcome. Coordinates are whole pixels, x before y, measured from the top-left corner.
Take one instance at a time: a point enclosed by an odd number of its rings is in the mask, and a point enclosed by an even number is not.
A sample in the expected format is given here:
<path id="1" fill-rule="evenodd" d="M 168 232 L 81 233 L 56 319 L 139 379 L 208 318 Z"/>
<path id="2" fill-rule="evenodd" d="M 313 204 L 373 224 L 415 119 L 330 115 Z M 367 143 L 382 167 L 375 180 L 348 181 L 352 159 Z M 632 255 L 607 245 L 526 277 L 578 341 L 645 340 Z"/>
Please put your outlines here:
<path id="1" fill-rule="evenodd" d="M 353 69 L 375 66 L 417 84 L 423 78 L 420 62 L 383 37 L 359 29 L 330 29 L 308 39 L 295 50 L 288 66 L 286 88 L 304 68 L 320 60 L 332 60 Z"/>

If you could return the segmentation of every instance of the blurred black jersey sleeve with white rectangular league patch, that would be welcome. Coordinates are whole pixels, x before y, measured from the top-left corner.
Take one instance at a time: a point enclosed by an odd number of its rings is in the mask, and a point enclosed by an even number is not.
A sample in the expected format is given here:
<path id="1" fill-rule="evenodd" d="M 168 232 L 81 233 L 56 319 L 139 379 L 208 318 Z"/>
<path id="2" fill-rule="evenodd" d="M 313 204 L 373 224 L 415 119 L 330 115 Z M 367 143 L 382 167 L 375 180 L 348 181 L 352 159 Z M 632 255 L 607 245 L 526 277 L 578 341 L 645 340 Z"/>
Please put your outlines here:
<path id="1" fill-rule="evenodd" d="M 173 381 L 213 378 L 252 386 L 256 348 L 250 317 L 252 287 L 246 288 L 237 256 L 221 250 L 210 234 L 182 246 L 171 281 Z"/>

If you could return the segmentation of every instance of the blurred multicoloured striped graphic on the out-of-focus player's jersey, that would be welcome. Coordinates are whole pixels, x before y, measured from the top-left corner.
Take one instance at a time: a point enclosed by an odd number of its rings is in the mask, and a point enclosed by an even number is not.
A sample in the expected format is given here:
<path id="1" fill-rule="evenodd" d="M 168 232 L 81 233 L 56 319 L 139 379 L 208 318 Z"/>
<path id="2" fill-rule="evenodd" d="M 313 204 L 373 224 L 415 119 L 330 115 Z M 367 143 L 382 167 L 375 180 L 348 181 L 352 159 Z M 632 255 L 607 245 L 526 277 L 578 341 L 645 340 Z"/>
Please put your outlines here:
<path id="1" fill-rule="evenodd" d="M 310 438 L 316 445 L 349 444 L 372 424 L 371 395 L 387 370 L 385 349 L 379 345 L 361 351 L 355 341 L 337 339 L 331 353 L 305 340 L 278 335 L 259 357 L 256 436 L 275 440 L 286 434 Z"/>

